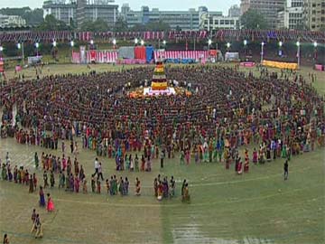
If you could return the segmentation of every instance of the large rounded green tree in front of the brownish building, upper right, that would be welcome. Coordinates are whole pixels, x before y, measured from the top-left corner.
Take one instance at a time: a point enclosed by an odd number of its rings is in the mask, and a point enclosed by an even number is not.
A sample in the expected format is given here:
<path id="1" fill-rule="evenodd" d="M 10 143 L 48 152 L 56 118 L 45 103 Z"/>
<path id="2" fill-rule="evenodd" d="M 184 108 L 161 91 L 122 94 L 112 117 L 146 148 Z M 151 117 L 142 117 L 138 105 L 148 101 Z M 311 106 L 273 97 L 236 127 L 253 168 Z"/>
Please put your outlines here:
<path id="1" fill-rule="evenodd" d="M 263 14 L 259 14 L 253 9 L 248 9 L 245 14 L 241 15 L 240 23 L 244 29 L 267 29 L 267 22 Z"/>

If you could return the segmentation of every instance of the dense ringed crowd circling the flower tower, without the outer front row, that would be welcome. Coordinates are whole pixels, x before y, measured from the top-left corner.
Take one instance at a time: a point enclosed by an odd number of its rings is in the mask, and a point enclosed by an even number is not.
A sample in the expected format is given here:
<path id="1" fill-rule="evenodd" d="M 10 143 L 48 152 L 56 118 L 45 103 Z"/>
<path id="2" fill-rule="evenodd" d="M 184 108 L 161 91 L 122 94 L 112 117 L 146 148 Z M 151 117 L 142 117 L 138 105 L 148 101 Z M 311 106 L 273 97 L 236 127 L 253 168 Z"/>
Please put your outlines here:
<path id="1" fill-rule="evenodd" d="M 2 136 L 20 130 L 23 140 L 35 140 L 49 136 L 46 130 L 54 139 L 91 136 L 92 149 L 150 142 L 167 150 L 199 148 L 200 154 L 209 142 L 232 148 L 250 144 L 254 136 L 265 147 L 273 140 L 287 147 L 323 142 L 324 100 L 302 76 L 282 70 L 277 78 L 262 69 L 255 77 L 237 69 L 167 67 L 167 79 L 190 89 L 190 97 L 130 99 L 128 92 L 151 80 L 152 67 L 11 82 L 0 93 Z M 14 106 L 16 126 L 29 130 L 11 127 Z"/>

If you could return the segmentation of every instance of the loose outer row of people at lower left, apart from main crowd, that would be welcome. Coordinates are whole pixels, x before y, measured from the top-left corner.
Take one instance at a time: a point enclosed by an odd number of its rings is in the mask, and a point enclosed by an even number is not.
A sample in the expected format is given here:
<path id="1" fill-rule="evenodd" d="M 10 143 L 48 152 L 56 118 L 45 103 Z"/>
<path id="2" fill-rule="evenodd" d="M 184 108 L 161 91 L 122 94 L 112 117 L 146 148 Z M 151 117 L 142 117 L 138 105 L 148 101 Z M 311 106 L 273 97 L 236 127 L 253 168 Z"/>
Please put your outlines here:
<path id="1" fill-rule="evenodd" d="M 77 158 L 74 159 L 74 163 L 72 165 L 70 156 L 68 160 L 62 158 L 60 161 L 60 157 L 56 157 L 55 155 L 45 155 L 42 153 L 41 157 L 42 161 L 42 180 L 43 183 L 39 183 L 39 204 L 41 207 L 46 206 L 47 211 L 54 211 L 54 203 L 51 201 L 50 193 L 47 193 L 47 201 L 45 201 L 45 189 L 53 189 L 56 186 L 55 179 L 58 179 L 58 189 L 65 189 L 66 192 L 76 192 L 79 193 L 80 185 L 82 187 L 83 193 L 88 193 L 88 182 L 86 174 L 83 170 L 82 165 L 79 166 L 79 161 Z M 29 192 L 36 192 L 38 187 L 38 180 L 35 173 L 29 174 L 27 169 L 23 169 L 23 165 L 17 167 L 14 166 L 14 174 L 12 174 L 11 160 L 9 157 L 9 153 L 5 156 L 5 163 L 2 164 L 2 180 L 19 183 L 22 185 L 29 186 Z M 37 153 L 34 155 L 34 163 L 35 168 L 39 167 L 39 158 Z M 129 180 L 127 177 L 123 178 L 122 176 L 118 177 L 116 174 L 111 175 L 105 180 L 105 185 L 102 186 L 102 182 L 104 181 L 103 173 L 101 170 L 101 163 L 98 162 L 98 158 L 95 159 L 94 163 L 95 173 L 91 174 L 91 192 L 93 193 L 101 193 L 101 188 L 106 187 L 107 194 L 121 195 L 125 196 L 129 194 Z M 74 168 L 72 173 L 72 168 Z M 48 173 L 50 172 L 50 183 Z M 158 177 L 154 178 L 153 181 L 153 192 L 154 197 L 157 200 L 161 201 L 163 198 L 172 198 L 175 196 L 176 189 L 176 181 L 174 177 L 171 177 L 171 180 L 168 181 L 168 177 L 164 176 L 161 178 L 161 174 L 158 174 Z M 141 195 L 141 182 L 138 177 L 135 177 L 135 195 Z M 181 187 L 181 199 L 183 202 L 189 202 L 190 195 L 188 190 L 188 183 L 186 180 L 183 181 Z M 47 203 L 46 203 L 47 202 Z"/>

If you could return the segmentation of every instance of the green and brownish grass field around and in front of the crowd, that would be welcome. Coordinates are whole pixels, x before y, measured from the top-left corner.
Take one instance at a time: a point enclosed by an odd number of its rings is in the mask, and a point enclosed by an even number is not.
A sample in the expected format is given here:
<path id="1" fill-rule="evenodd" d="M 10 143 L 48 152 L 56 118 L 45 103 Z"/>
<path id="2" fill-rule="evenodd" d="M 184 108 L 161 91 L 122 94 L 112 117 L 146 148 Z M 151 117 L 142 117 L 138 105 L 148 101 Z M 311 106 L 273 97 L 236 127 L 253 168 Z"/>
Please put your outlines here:
<path id="1" fill-rule="evenodd" d="M 108 65 L 92 69 L 119 69 Z M 83 72 L 86 66 L 51 66 L 51 72 Z M 29 72 L 30 70 L 25 70 Z M 302 70 L 308 74 L 308 70 Z M 30 71 L 32 76 L 33 71 Z M 324 77 L 318 75 L 315 86 L 325 94 Z M 80 145 L 80 144 L 79 144 Z M 252 147 L 249 147 L 250 155 Z M 9 151 L 12 164 L 23 164 L 34 172 L 33 154 L 42 151 L 61 155 L 32 145 L 18 145 L 14 139 L 0 139 L 0 158 Z M 70 154 L 68 154 L 70 155 Z M 71 155 L 72 156 L 72 155 Z M 88 177 L 88 194 L 54 189 L 51 192 L 56 211 L 38 207 L 38 193 L 28 187 L 0 180 L 0 231 L 8 233 L 10 243 L 302 243 L 325 242 L 325 162 L 323 148 L 292 157 L 289 180 L 283 181 L 283 159 L 265 164 L 250 164 L 248 174 L 235 174 L 224 164 L 180 165 L 178 156 L 166 160 L 163 171 L 153 162 L 152 173 L 116 173 L 114 161 L 100 158 L 104 177 L 127 176 L 130 195 L 108 196 L 90 192 L 95 152 L 80 150 L 79 162 Z M 73 158 L 73 157 L 72 157 Z M 36 170 L 39 183 L 42 171 Z M 153 197 L 153 179 L 157 174 L 173 175 L 177 197 L 158 202 Z M 142 182 L 142 195 L 134 195 L 135 177 Z M 190 183 L 190 203 L 182 203 L 181 181 Z M 58 182 L 58 179 L 56 179 Z M 33 239 L 32 208 L 43 221 L 43 239 Z"/>

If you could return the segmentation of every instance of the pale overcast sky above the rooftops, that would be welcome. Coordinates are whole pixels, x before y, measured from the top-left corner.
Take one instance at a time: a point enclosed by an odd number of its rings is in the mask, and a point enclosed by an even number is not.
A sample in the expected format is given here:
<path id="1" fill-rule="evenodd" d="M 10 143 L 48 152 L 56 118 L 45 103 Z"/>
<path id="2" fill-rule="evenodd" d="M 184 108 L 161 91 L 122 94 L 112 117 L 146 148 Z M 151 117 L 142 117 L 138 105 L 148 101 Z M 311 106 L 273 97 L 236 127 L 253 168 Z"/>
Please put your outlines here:
<path id="1" fill-rule="evenodd" d="M 0 7 L 23 7 L 31 8 L 42 7 L 43 0 L 0 0 Z M 210 11 L 223 11 L 228 14 L 230 5 L 239 5 L 240 0 L 116 0 L 116 4 L 128 3 L 132 9 L 139 10 L 142 5 L 150 8 L 158 7 L 162 10 L 188 10 L 205 5 Z"/>

